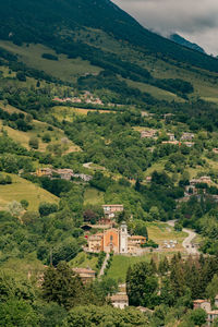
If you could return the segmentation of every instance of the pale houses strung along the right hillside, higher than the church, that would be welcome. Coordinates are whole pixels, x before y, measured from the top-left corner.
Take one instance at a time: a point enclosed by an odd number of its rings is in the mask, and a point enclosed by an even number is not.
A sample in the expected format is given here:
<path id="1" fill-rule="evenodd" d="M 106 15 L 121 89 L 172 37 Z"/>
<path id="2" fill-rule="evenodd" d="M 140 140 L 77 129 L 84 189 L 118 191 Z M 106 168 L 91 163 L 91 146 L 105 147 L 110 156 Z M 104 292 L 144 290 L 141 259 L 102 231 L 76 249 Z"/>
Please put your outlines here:
<path id="1" fill-rule="evenodd" d="M 158 135 L 158 130 L 146 130 L 141 132 L 141 138 L 147 137 L 147 138 L 153 138 L 157 140 Z M 174 137 L 173 133 L 167 133 L 168 141 L 162 141 L 162 144 L 173 144 L 173 145 L 181 145 L 185 144 L 189 147 L 192 147 L 194 145 L 193 138 L 194 134 L 192 133 L 183 133 L 182 136 L 180 137 L 180 141 L 177 141 Z M 181 143 L 182 142 L 182 143 Z"/>

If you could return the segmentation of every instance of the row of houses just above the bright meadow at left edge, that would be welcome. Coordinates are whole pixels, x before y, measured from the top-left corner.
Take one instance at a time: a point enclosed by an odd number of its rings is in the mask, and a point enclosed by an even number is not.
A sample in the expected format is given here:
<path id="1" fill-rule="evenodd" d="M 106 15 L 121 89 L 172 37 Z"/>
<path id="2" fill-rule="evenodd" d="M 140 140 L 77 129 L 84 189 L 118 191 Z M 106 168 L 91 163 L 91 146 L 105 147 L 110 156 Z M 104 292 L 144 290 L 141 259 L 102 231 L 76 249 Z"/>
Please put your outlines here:
<path id="1" fill-rule="evenodd" d="M 85 173 L 74 173 L 72 169 L 63 168 L 63 169 L 53 169 L 53 168 L 39 168 L 34 172 L 37 177 L 47 177 L 49 179 L 60 178 L 65 181 L 71 181 L 73 178 L 81 179 L 84 182 L 89 182 L 93 177 Z"/>

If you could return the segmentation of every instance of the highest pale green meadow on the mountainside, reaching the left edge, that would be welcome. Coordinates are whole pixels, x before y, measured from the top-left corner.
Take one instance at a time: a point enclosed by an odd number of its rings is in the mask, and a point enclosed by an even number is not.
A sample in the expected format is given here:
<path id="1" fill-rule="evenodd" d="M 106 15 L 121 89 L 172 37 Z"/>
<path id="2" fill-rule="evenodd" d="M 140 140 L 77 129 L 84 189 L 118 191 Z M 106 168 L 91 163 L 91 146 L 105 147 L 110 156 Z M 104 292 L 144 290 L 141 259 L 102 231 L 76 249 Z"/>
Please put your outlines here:
<path id="1" fill-rule="evenodd" d="M 58 61 L 47 60 L 41 58 L 43 53 L 57 53 L 43 45 L 23 45 L 21 47 L 14 45 L 11 41 L 0 41 L 0 46 L 8 51 L 19 55 L 21 61 L 26 63 L 28 66 L 43 70 L 46 73 L 61 78 L 63 81 L 73 81 L 76 77 L 84 75 L 86 73 L 99 73 L 100 69 L 98 66 L 90 65 L 86 60 L 81 58 L 68 59 L 65 55 L 59 55 Z"/>

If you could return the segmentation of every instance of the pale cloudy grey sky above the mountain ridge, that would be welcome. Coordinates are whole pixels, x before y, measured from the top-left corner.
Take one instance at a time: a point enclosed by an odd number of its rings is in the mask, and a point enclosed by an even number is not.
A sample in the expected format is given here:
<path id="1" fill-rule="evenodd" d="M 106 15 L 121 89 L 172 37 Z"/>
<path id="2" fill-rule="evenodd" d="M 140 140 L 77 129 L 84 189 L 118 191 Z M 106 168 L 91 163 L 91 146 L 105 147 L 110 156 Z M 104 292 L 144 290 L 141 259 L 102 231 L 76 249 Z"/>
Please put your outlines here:
<path id="1" fill-rule="evenodd" d="M 112 0 L 143 26 L 164 36 L 178 33 L 218 55 L 218 0 Z"/>

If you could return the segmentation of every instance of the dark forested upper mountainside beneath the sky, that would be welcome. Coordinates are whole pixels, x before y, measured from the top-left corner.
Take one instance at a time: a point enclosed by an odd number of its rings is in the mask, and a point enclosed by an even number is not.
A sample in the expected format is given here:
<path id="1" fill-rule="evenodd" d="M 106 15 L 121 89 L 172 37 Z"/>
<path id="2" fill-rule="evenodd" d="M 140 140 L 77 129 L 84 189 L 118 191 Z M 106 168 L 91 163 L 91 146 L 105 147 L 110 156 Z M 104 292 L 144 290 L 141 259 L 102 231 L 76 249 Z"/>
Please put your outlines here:
<path id="1" fill-rule="evenodd" d="M 109 0 L 10 0 L 0 3 L 0 38 L 15 43 L 43 43 L 71 55 L 80 48 L 81 56 L 87 57 L 87 47 L 72 38 L 72 32 L 86 26 L 141 47 L 145 53 L 218 72 L 216 59 L 149 32 Z"/>

